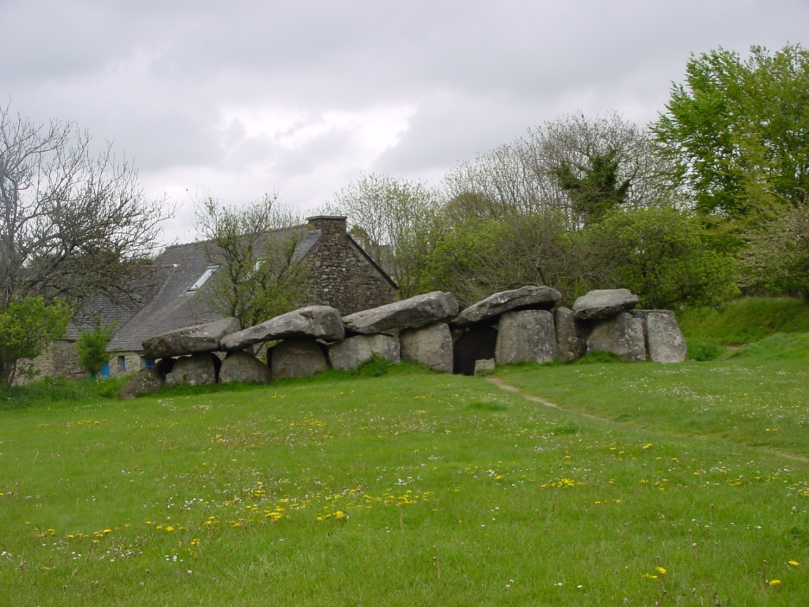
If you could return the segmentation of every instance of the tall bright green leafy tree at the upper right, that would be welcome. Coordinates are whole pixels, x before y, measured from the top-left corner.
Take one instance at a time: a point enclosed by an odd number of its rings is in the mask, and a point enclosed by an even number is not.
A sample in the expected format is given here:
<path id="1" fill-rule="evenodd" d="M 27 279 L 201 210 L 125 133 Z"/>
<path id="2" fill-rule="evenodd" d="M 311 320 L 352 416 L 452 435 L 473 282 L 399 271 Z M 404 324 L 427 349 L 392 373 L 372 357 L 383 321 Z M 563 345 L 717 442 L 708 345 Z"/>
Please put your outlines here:
<path id="1" fill-rule="evenodd" d="M 806 203 L 809 50 L 692 55 L 651 129 L 705 216 L 749 227 L 773 206 Z"/>

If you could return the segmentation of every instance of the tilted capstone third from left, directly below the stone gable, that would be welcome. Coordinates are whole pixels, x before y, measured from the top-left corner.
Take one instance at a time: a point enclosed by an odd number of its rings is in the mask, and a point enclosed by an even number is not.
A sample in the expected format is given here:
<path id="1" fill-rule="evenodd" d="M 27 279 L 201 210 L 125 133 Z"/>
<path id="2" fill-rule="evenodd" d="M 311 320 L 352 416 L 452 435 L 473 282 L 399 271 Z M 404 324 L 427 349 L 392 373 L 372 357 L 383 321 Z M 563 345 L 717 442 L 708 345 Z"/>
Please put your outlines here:
<path id="1" fill-rule="evenodd" d="M 433 291 L 343 316 L 343 323 L 354 333 L 398 333 L 447 320 L 457 313 L 458 302 L 452 295 Z"/>

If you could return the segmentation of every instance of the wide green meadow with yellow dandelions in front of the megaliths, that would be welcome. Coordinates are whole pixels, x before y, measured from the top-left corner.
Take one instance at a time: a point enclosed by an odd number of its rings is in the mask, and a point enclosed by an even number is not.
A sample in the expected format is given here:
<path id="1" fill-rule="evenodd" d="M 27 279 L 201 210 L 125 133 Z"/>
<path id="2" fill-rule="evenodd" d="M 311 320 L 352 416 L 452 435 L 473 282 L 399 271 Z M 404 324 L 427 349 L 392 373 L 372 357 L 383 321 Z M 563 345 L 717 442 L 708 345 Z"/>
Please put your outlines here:
<path id="1" fill-rule="evenodd" d="M 3 410 L 0 604 L 804 605 L 798 350 Z"/>

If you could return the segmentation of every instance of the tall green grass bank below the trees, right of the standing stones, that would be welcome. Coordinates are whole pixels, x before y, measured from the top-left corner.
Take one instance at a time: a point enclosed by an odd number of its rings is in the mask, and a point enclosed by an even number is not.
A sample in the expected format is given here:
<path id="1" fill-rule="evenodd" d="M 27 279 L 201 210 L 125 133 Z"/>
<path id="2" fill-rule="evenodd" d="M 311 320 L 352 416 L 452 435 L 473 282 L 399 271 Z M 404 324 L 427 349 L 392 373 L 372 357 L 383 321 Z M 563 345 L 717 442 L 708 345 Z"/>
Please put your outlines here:
<path id="1" fill-rule="evenodd" d="M 809 301 L 746 297 L 721 310 L 678 312 L 677 320 L 686 342 L 738 346 L 773 333 L 809 333 Z"/>

